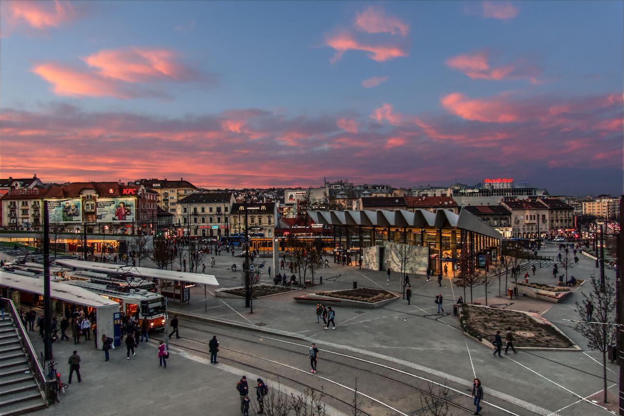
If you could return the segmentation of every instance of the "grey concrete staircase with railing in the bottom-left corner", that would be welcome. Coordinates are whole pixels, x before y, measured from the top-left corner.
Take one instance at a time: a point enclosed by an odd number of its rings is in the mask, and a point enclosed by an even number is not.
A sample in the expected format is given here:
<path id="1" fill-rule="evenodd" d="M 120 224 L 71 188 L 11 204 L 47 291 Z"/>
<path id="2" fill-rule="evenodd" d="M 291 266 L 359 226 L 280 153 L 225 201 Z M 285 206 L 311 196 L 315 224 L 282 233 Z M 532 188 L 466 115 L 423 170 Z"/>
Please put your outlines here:
<path id="1" fill-rule="evenodd" d="M 6 312 L 11 312 L 12 306 L 12 303 L 7 305 Z M 43 409 L 47 402 L 31 368 L 29 354 L 22 346 L 24 342 L 28 348 L 30 342 L 21 335 L 24 333 L 21 322 L 17 322 L 17 327 L 14 314 L 6 312 L 4 319 L 0 318 L 0 416 L 14 416 Z M 38 370 L 41 380 L 41 368 Z"/>

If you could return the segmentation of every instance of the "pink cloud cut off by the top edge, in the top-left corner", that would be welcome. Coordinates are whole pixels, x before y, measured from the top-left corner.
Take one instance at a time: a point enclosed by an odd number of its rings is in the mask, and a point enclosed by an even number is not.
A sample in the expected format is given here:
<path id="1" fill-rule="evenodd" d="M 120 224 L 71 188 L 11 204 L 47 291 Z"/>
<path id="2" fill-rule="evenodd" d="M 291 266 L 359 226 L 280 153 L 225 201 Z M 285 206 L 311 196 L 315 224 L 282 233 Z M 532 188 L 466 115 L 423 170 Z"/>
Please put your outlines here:
<path id="1" fill-rule="evenodd" d="M 10 1 L 7 21 L 13 24 L 25 23 L 35 29 L 58 27 L 76 16 L 69 1 Z"/>

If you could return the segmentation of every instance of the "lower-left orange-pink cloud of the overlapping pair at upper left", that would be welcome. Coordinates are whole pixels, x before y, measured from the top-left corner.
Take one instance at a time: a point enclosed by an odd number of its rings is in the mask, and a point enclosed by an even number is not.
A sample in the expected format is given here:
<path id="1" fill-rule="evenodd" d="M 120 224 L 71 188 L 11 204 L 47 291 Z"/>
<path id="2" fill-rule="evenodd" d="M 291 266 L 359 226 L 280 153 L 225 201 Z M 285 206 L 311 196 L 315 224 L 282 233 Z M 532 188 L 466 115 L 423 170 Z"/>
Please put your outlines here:
<path id="1" fill-rule="evenodd" d="M 52 84 L 52 90 L 57 95 L 69 97 L 116 97 L 130 98 L 112 79 L 102 78 L 99 75 L 84 72 L 66 65 L 53 63 L 38 64 L 32 72 Z"/>

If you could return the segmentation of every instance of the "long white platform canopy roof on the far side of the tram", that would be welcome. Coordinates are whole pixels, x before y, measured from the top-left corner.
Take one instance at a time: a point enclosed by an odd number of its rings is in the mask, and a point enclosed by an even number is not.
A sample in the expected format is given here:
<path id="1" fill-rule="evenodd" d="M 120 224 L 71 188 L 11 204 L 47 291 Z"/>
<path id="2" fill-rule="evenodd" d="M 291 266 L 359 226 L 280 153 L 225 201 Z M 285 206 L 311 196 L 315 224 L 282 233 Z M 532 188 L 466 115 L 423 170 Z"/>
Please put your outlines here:
<path id="1" fill-rule="evenodd" d="M 212 274 L 187 273 L 175 270 L 152 269 L 149 267 L 124 266 L 122 264 L 70 259 L 60 259 L 57 260 L 56 263 L 71 268 L 102 271 L 104 273 L 129 273 L 137 278 L 144 279 L 168 279 L 195 284 L 207 284 L 209 286 L 219 286 L 217 278 L 215 278 Z"/>

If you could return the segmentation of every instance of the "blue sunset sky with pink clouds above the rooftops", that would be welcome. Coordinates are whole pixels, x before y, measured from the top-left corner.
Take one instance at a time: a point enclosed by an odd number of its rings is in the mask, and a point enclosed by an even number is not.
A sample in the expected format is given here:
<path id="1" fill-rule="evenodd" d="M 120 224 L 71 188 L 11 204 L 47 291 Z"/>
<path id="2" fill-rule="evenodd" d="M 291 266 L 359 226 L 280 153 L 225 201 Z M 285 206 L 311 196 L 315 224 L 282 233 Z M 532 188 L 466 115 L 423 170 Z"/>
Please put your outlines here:
<path id="1" fill-rule="evenodd" d="M 0 2 L 0 177 L 623 193 L 622 1 Z"/>

